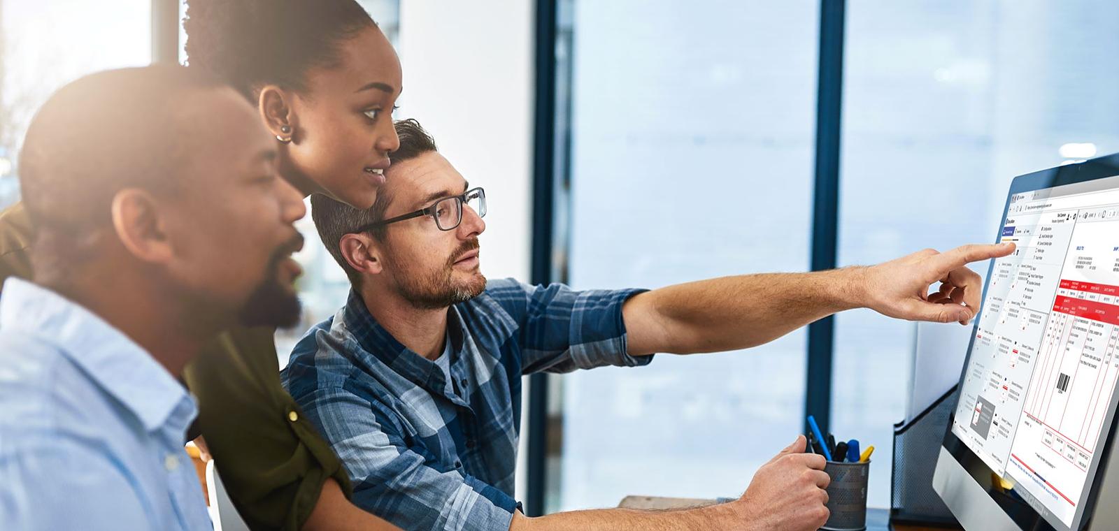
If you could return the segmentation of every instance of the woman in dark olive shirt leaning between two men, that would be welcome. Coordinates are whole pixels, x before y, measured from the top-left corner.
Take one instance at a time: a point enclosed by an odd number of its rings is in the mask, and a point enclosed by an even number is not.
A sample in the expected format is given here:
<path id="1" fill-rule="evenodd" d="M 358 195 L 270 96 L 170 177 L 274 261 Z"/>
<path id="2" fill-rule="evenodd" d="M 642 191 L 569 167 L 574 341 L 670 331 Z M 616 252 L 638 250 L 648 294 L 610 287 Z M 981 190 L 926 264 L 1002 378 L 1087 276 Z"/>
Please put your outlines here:
<path id="1" fill-rule="evenodd" d="M 399 141 L 401 65 L 354 0 L 188 0 L 188 65 L 227 79 L 275 135 L 303 193 L 369 208 Z M 389 529 L 348 502 L 338 457 L 279 379 L 272 330 L 235 330 L 187 371 L 198 427 L 261 529 Z"/>

